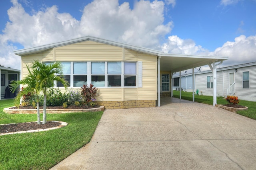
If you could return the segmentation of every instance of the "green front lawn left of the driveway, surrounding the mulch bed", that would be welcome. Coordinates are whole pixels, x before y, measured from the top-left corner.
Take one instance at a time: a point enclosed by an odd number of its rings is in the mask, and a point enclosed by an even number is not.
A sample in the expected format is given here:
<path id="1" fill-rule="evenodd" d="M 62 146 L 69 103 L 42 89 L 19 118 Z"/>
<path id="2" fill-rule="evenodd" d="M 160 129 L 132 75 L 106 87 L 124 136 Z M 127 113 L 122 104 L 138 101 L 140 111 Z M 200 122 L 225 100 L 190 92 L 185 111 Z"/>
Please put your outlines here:
<path id="1" fill-rule="evenodd" d="M 0 124 L 36 121 L 36 114 L 5 114 L 13 100 L 0 100 Z M 0 136 L 0 170 L 48 170 L 90 142 L 103 111 L 47 114 L 66 127 L 39 133 Z M 42 115 L 41 115 L 42 116 Z"/>

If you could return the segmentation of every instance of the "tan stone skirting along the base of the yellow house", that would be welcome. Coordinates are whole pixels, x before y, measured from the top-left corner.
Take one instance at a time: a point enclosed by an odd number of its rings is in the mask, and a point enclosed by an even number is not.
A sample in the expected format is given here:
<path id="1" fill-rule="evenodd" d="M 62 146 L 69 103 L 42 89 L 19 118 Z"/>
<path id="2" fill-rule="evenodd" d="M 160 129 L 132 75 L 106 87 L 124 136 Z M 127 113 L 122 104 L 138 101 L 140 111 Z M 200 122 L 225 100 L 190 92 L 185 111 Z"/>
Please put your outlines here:
<path id="1" fill-rule="evenodd" d="M 95 102 L 105 109 L 127 109 L 135 107 L 156 107 L 156 100 L 130 100 L 130 101 L 107 101 Z"/>

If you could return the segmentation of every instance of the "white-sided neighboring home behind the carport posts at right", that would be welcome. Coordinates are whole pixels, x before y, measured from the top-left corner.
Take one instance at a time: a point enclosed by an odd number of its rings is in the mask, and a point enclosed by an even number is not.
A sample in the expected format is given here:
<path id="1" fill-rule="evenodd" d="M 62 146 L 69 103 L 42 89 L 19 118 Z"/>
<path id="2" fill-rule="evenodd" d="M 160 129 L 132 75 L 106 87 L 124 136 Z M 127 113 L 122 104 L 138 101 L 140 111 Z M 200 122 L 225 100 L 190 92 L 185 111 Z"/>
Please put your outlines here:
<path id="1" fill-rule="evenodd" d="M 213 76 L 211 71 L 197 72 L 195 89 L 199 95 L 213 95 Z M 174 78 L 179 82 L 179 77 Z M 186 84 L 187 82 L 187 84 Z M 192 74 L 181 76 L 181 87 L 191 92 Z M 177 83 L 173 90 L 179 88 Z M 256 102 L 256 62 L 228 66 L 217 69 L 217 96 L 238 96 L 240 100 Z"/>

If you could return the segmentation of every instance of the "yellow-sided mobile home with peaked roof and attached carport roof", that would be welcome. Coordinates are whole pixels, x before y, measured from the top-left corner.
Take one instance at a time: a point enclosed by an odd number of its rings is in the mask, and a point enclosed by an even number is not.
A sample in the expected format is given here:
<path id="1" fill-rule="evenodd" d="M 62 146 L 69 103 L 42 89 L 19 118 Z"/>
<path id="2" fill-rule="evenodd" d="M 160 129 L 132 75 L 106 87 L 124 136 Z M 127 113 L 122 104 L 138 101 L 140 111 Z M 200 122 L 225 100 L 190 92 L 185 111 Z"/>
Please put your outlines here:
<path id="1" fill-rule="evenodd" d="M 107 109 L 160 106 L 160 81 L 165 84 L 161 91 L 170 92 L 172 72 L 228 59 L 166 54 L 90 36 L 14 53 L 21 56 L 21 78 L 28 74 L 26 64 L 33 60 L 60 61 L 70 88 L 93 84 L 99 94 L 96 103 Z M 64 90 L 61 84 L 55 86 Z"/>

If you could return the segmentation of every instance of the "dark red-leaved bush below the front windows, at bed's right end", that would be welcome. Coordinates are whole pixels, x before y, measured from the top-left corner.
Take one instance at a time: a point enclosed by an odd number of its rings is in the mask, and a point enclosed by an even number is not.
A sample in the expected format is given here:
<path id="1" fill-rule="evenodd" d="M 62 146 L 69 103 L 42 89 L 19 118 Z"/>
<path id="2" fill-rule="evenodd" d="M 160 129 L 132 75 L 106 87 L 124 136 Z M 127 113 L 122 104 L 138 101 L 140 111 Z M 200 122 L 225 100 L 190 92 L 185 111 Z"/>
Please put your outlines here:
<path id="1" fill-rule="evenodd" d="M 87 84 L 83 85 L 82 87 L 81 94 L 83 96 L 84 102 L 86 105 L 94 106 L 94 101 L 96 100 L 97 90 L 98 88 L 93 87 L 92 84 L 88 87 Z"/>

